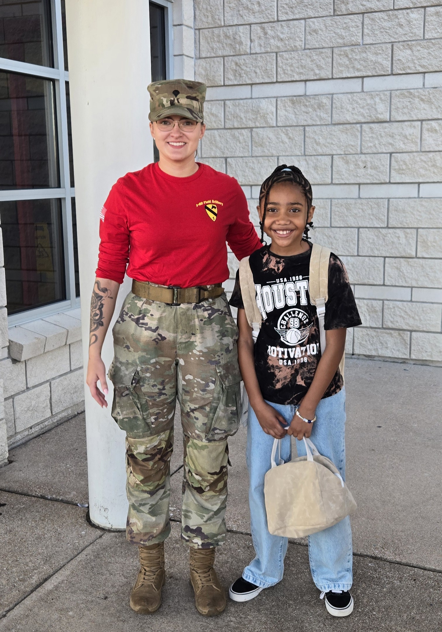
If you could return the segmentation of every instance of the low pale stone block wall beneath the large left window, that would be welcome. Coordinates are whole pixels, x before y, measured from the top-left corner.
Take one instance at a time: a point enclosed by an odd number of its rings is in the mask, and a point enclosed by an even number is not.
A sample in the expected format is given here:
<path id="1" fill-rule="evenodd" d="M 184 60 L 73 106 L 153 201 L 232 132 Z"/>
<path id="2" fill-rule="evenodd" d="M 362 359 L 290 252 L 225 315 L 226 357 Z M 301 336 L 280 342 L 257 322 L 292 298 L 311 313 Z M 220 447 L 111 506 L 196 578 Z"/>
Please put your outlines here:
<path id="1" fill-rule="evenodd" d="M 4 459 L 8 444 L 16 446 L 84 410 L 80 308 L 6 331 L 0 360 Z"/>

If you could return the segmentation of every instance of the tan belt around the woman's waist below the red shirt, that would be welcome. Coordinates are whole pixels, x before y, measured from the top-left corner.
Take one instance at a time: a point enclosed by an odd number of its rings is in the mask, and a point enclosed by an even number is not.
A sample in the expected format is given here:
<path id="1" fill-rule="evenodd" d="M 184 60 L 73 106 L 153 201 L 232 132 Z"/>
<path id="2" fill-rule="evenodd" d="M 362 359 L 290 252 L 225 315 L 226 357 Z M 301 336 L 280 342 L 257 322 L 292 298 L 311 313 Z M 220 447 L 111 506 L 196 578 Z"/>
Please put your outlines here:
<path id="1" fill-rule="evenodd" d="M 207 298 L 218 298 L 224 288 L 217 283 L 211 289 L 207 286 L 196 288 L 178 288 L 176 286 L 152 285 L 148 281 L 132 281 L 132 293 L 148 301 L 158 301 L 167 305 L 181 305 L 181 303 L 201 303 Z"/>

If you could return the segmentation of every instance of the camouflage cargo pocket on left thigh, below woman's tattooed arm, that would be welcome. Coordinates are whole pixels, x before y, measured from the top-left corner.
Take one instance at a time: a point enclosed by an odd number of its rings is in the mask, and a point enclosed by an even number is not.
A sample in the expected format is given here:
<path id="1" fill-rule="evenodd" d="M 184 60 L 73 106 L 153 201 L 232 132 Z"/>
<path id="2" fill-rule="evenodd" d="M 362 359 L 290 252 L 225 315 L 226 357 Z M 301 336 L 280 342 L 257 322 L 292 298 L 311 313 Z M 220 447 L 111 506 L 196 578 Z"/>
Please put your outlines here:
<path id="1" fill-rule="evenodd" d="M 149 405 L 140 386 L 138 367 L 114 360 L 107 375 L 114 385 L 111 414 L 121 430 L 135 437 L 150 434 Z"/>

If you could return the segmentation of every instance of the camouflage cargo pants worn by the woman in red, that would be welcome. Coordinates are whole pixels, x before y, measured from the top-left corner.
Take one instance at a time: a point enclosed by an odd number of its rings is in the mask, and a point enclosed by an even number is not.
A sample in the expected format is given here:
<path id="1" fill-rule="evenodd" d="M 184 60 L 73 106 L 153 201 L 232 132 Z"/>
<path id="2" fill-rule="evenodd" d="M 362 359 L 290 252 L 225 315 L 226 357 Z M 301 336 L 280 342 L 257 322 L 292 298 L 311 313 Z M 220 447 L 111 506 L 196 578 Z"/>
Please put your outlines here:
<path id="1" fill-rule="evenodd" d="M 179 307 L 126 297 L 113 329 L 112 415 L 126 431 L 126 537 L 137 545 L 170 532 L 170 459 L 176 399 L 184 435 L 181 538 L 224 542 L 227 438 L 238 430 L 238 332 L 226 296 Z"/>

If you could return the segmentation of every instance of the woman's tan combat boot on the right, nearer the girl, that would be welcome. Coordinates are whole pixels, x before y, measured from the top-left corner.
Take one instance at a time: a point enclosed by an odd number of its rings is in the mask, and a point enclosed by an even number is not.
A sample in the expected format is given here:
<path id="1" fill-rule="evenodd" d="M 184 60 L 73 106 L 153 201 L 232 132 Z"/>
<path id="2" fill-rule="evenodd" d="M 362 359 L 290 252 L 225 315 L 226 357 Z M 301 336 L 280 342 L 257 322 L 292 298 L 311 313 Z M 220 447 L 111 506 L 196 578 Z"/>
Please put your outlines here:
<path id="1" fill-rule="evenodd" d="M 213 568 L 215 549 L 190 549 L 190 583 L 195 606 L 200 614 L 211 617 L 226 607 L 226 593 Z"/>

